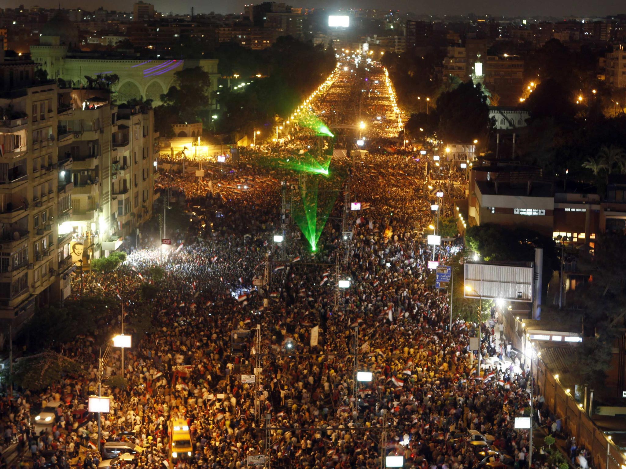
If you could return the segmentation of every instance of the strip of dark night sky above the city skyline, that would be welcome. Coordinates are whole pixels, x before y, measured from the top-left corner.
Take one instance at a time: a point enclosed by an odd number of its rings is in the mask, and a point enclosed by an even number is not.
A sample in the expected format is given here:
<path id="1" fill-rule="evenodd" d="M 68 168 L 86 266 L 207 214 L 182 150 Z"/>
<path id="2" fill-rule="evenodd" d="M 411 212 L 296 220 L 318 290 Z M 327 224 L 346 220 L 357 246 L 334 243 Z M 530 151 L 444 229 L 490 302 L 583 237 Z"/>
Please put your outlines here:
<path id="1" fill-rule="evenodd" d="M 241 13 L 245 3 L 260 3 L 259 1 L 245 0 L 153 0 L 158 11 L 168 13 L 188 13 L 192 6 L 197 13 Z M 44 8 L 58 6 L 58 0 L 35 0 L 32 3 L 23 0 L 13 0 L 4 3 L 4 6 L 18 6 L 24 3 L 29 7 L 37 4 Z M 64 0 L 63 8 L 97 9 L 105 6 L 106 9 L 131 10 L 133 1 L 110 0 Z M 313 8 L 393 8 L 400 11 L 423 14 L 491 14 L 505 16 L 606 16 L 607 14 L 626 13 L 626 4 L 623 0 L 295 0 L 286 1 L 293 6 Z"/>

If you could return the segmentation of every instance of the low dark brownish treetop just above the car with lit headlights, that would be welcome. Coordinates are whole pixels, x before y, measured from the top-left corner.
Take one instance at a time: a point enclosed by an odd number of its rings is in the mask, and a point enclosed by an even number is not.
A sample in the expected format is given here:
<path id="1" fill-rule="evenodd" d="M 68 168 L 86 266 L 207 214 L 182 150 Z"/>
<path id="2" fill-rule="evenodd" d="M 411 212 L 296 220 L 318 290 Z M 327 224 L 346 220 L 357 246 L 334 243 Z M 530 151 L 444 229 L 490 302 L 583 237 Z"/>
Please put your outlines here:
<path id="1" fill-rule="evenodd" d="M 9 369 L 2 371 L 3 378 L 9 378 Z M 41 391 L 48 386 L 61 383 L 66 376 L 82 375 L 81 366 L 71 358 L 51 350 L 37 355 L 25 356 L 13 365 L 12 381 L 15 385 L 30 391 Z"/>

